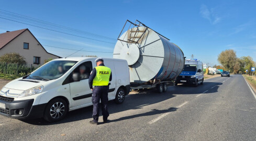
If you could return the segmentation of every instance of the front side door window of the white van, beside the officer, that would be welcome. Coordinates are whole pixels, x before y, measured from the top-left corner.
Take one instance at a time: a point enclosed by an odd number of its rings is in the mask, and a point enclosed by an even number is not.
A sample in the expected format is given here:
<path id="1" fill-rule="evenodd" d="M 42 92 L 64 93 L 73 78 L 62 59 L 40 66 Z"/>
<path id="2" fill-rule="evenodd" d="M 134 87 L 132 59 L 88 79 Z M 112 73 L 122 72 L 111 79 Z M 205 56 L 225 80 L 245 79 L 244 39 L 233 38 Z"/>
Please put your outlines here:
<path id="1" fill-rule="evenodd" d="M 90 76 L 90 73 L 93 70 L 93 65 L 91 61 L 87 61 L 82 63 L 81 65 L 77 66 L 73 73 L 78 73 L 80 75 L 80 80 L 88 79 Z"/>

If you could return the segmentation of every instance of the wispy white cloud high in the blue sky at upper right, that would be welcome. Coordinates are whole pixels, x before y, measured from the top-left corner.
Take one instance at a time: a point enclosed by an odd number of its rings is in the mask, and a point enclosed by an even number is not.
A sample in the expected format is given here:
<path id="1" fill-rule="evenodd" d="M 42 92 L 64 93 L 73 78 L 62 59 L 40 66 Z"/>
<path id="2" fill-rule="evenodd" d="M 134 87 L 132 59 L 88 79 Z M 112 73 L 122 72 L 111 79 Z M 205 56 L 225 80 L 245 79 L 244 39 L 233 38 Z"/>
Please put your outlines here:
<path id="1" fill-rule="evenodd" d="M 204 4 L 201 5 L 200 14 L 203 18 L 209 20 L 212 25 L 215 25 L 221 20 L 221 17 L 218 16 L 214 8 L 208 9 Z"/>

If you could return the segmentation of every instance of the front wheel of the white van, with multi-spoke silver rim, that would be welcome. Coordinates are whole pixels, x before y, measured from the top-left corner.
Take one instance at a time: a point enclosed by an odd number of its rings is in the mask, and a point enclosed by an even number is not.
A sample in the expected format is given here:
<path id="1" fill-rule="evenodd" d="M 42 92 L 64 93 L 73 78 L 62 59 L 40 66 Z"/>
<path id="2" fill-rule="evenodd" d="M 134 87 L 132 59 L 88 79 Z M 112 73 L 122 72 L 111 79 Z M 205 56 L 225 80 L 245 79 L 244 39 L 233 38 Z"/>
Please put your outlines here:
<path id="1" fill-rule="evenodd" d="M 57 109 L 59 112 L 57 112 L 56 114 L 54 113 L 51 114 L 51 110 L 54 110 L 54 107 L 59 107 Z M 66 103 L 66 101 L 62 98 L 54 98 L 51 101 L 49 101 L 48 104 L 46 105 L 46 109 L 44 110 L 44 114 L 43 114 L 43 119 L 48 122 L 57 122 L 62 120 L 65 117 L 67 112 L 68 112 L 68 104 Z M 54 118 L 54 116 L 56 118 Z"/>

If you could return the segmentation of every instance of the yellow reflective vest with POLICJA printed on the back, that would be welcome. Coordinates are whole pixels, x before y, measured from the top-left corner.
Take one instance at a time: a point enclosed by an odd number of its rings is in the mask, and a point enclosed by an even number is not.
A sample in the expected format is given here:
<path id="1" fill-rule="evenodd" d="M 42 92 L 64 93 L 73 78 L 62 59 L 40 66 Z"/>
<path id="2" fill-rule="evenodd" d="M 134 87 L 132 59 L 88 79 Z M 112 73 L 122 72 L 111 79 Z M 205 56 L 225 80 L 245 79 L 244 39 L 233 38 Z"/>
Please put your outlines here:
<path id="1" fill-rule="evenodd" d="M 93 86 L 108 86 L 111 69 L 106 66 L 97 66 Z"/>

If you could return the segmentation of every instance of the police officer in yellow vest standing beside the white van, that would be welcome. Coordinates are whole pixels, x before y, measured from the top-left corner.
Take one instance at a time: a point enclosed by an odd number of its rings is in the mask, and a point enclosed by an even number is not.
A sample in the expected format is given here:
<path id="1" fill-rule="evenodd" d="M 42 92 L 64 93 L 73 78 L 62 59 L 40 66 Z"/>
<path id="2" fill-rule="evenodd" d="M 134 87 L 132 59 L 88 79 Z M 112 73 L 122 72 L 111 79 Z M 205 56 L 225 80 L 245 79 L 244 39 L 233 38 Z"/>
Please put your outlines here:
<path id="1" fill-rule="evenodd" d="M 93 71 L 89 77 L 89 86 L 93 91 L 93 120 L 90 121 L 90 123 L 98 124 L 99 100 L 102 101 L 103 122 L 107 123 L 107 117 L 109 116 L 107 110 L 108 83 L 112 80 L 112 73 L 110 68 L 104 66 L 103 58 L 97 58 L 95 62 L 97 66 L 93 68 Z"/>

